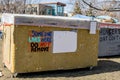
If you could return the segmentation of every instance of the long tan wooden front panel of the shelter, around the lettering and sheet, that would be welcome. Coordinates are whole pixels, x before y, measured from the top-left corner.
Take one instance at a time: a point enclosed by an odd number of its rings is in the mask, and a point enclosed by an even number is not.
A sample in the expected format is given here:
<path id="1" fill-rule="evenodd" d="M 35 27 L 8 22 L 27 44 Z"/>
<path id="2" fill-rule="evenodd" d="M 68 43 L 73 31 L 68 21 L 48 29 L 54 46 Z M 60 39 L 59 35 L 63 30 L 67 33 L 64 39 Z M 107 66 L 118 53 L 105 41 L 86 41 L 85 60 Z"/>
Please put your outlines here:
<path id="1" fill-rule="evenodd" d="M 17 73 L 75 69 L 97 65 L 98 38 L 97 34 L 89 34 L 89 30 L 78 29 L 77 51 L 71 53 L 53 54 L 52 45 L 48 52 L 29 51 L 29 32 L 35 31 L 71 31 L 67 28 L 16 26 L 14 32 L 15 43 L 15 71 Z M 62 42 L 61 42 L 62 44 Z"/>

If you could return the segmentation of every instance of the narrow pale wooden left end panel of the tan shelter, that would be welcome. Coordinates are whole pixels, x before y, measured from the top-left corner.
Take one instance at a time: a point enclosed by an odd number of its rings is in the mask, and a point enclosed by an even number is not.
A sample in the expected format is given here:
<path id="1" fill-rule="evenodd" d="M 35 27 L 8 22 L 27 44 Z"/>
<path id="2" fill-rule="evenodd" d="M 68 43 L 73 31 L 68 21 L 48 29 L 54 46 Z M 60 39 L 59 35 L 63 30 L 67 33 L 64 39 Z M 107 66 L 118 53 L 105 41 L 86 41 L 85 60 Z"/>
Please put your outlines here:
<path id="1" fill-rule="evenodd" d="M 3 63 L 14 72 L 14 26 L 4 26 L 3 32 Z"/>

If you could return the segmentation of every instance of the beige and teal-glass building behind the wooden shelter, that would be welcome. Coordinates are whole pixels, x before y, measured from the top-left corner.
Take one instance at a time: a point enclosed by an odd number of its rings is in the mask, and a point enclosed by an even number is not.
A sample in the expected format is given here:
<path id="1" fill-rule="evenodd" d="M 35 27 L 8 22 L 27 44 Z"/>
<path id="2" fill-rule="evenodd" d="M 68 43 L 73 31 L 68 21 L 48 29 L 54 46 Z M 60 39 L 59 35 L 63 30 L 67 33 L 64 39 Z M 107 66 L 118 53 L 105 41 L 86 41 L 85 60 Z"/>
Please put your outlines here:
<path id="1" fill-rule="evenodd" d="M 64 7 L 66 4 L 61 2 L 28 4 L 26 14 L 64 16 Z"/>

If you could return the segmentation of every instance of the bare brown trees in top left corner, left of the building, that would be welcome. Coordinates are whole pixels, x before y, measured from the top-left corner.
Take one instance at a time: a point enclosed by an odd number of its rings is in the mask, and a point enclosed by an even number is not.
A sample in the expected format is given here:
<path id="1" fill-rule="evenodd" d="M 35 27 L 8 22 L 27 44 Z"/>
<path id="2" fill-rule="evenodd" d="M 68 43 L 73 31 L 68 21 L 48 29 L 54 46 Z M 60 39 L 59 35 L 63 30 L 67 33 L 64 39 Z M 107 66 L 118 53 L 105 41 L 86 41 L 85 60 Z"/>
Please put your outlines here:
<path id="1" fill-rule="evenodd" d="M 0 11 L 7 13 L 24 13 L 26 0 L 1 0 Z"/>

